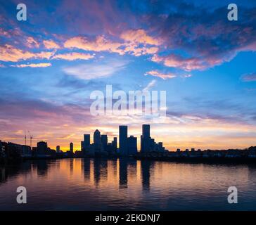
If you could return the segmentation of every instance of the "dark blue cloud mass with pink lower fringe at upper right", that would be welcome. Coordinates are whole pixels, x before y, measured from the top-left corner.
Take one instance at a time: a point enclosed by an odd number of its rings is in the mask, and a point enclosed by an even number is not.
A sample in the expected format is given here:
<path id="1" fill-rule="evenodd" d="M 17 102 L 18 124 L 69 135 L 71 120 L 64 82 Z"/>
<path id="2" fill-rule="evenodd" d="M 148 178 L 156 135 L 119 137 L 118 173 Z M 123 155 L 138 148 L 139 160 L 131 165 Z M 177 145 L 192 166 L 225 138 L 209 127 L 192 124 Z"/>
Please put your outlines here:
<path id="1" fill-rule="evenodd" d="M 186 71 L 206 70 L 229 62 L 241 51 L 256 49 L 256 8 L 241 6 L 239 20 L 234 24 L 226 19 L 224 6 L 207 10 L 177 1 L 172 3 L 165 17 L 160 17 L 168 3 L 156 5 L 155 13 L 146 18 L 151 31 L 158 33 L 161 47 L 186 53 L 186 57 L 155 55 L 152 59 L 157 63 Z"/>

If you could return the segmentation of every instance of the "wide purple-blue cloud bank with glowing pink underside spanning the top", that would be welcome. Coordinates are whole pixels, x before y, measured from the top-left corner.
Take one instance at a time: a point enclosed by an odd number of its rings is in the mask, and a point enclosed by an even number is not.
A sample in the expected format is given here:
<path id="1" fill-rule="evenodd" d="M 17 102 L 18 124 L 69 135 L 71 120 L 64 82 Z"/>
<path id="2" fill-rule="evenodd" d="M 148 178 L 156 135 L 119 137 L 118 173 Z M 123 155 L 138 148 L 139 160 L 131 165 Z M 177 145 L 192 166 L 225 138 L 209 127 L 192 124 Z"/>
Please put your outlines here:
<path id="1" fill-rule="evenodd" d="M 236 23 L 226 19 L 226 6 L 219 7 L 219 4 L 209 10 L 186 1 L 143 1 L 140 6 L 126 3 L 122 7 L 115 1 L 79 1 L 78 5 L 82 7 L 63 1 L 58 7 L 54 6 L 53 12 L 58 17 L 51 20 L 50 27 L 46 26 L 48 34 L 58 25 L 58 29 L 67 29 L 65 32 L 71 31 L 74 36 L 87 35 L 64 41 L 68 49 L 134 56 L 158 53 L 153 58 L 155 62 L 186 71 L 205 70 L 228 62 L 241 51 L 256 50 L 256 8 L 245 8 L 245 4 L 239 8 Z M 36 22 L 49 15 L 48 11 L 41 12 Z M 5 15 L 1 19 L 3 24 L 10 22 L 8 24 L 15 27 L 0 28 L 0 35 L 5 39 L 11 37 L 11 43 L 27 43 L 26 46 L 38 48 L 37 40 L 26 36 L 25 30 L 15 26 L 14 21 Z M 56 41 L 58 44 L 53 39 L 44 40 L 43 44 L 46 49 L 63 46 L 63 37 Z M 186 57 L 162 56 L 161 51 L 184 52 Z"/>

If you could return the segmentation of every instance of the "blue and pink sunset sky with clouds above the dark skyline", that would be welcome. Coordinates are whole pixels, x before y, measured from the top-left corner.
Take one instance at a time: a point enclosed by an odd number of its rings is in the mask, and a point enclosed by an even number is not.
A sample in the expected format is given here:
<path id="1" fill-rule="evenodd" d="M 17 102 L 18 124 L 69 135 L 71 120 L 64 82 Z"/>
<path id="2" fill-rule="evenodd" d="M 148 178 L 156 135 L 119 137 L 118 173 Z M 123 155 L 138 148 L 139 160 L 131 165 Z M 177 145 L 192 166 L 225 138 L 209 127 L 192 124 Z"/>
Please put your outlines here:
<path id="1" fill-rule="evenodd" d="M 19 3 L 0 0 L 0 140 L 79 149 L 151 124 L 168 150 L 256 146 L 256 1 L 232 1 L 237 21 L 226 0 L 23 0 L 26 21 Z M 106 85 L 166 91 L 167 117 L 91 115 Z"/>

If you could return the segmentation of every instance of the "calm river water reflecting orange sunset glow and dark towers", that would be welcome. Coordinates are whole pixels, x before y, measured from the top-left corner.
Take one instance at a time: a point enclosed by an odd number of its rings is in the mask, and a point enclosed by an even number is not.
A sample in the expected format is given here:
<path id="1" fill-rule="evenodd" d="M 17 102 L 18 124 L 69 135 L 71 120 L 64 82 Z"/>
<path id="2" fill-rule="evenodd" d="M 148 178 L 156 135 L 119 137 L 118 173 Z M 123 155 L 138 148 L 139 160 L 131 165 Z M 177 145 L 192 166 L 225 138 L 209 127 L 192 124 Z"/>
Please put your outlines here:
<path id="1" fill-rule="evenodd" d="M 18 186 L 27 188 L 26 205 L 16 203 Z M 227 203 L 229 186 L 238 204 Z M 256 165 L 27 161 L 1 167 L 0 210 L 256 210 Z"/>

